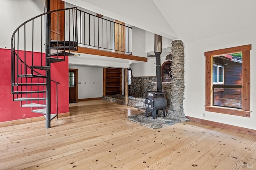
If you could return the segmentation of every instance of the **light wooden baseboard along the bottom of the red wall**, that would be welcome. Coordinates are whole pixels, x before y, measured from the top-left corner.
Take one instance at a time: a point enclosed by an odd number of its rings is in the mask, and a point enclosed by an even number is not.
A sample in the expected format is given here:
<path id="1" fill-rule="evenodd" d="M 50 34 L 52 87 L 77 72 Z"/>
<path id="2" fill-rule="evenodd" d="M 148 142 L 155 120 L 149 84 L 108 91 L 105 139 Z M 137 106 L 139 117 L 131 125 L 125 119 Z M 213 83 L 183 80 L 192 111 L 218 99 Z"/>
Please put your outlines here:
<path id="1" fill-rule="evenodd" d="M 60 118 L 60 117 L 68 117 L 68 116 L 70 116 L 70 112 L 59 113 L 58 114 L 58 118 Z M 4 121 L 4 122 L 0 122 L 0 127 L 7 127 L 7 126 L 12 126 L 12 125 L 20 125 L 20 124 L 24 124 L 24 123 L 32 123 L 32 122 L 37 122 L 37 121 L 42 121 L 42 120 L 45 120 L 44 116 L 31 117 L 31 118 L 26 118 L 26 119 L 18 119 L 18 120 L 11 120 L 11 121 Z"/>

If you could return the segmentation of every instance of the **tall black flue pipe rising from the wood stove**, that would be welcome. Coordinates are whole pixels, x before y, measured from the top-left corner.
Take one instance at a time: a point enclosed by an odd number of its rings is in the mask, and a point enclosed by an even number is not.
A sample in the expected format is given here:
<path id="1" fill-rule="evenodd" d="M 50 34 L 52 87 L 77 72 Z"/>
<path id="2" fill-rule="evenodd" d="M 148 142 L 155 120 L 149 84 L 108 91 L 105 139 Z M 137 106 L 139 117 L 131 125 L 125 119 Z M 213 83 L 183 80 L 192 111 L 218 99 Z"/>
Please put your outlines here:
<path id="1" fill-rule="evenodd" d="M 161 78 L 161 60 L 162 53 L 162 36 L 155 34 L 155 50 L 156 55 L 156 87 L 157 92 L 162 92 L 162 78 Z"/>

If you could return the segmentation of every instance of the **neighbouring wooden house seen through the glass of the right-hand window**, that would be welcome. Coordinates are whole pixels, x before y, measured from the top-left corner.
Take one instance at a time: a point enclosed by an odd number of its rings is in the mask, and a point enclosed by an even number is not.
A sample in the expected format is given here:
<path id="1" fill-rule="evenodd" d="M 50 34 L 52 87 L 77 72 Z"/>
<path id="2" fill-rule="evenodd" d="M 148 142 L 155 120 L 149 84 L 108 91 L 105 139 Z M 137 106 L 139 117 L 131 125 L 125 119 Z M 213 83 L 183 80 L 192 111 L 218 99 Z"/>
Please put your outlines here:
<path id="1" fill-rule="evenodd" d="M 242 53 L 213 57 L 212 72 L 214 105 L 242 108 Z"/>

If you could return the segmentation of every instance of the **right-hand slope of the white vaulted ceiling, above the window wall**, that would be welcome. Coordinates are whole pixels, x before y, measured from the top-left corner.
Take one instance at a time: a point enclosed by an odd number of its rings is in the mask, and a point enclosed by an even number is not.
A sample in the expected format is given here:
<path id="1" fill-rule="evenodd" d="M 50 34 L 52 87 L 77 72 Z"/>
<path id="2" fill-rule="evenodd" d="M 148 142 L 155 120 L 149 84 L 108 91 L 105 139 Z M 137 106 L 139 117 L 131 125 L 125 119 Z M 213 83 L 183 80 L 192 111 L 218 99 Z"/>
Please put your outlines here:
<path id="1" fill-rule="evenodd" d="M 256 0 L 154 0 L 184 42 L 256 27 Z"/>

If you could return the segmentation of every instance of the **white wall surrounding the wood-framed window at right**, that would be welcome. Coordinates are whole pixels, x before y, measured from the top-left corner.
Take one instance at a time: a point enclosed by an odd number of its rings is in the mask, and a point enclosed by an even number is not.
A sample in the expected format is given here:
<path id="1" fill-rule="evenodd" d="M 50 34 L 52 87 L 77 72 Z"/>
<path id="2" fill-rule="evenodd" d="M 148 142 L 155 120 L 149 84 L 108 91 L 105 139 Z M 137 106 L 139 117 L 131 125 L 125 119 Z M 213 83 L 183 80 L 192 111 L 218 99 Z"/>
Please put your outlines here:
<path id="1" fill-rule="evenodd" d="M 236 31 L 200 41 L 184 44 L 185 47 L 185 96 L 184 113 L 187 116 L 256 129 L 256 27 Z M 250 51 L 251 117 L 241 117 L 205 111 L 205 57 L 204 52 L 252 44 Z M 203 113 L 206 117 L 202 117 Z"/>

